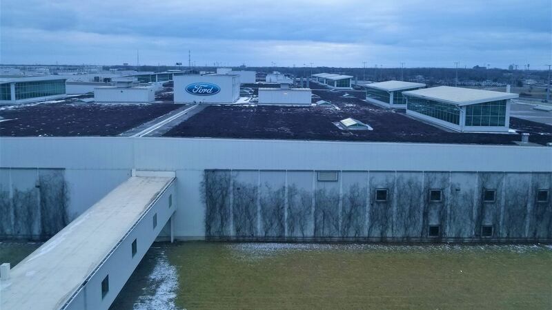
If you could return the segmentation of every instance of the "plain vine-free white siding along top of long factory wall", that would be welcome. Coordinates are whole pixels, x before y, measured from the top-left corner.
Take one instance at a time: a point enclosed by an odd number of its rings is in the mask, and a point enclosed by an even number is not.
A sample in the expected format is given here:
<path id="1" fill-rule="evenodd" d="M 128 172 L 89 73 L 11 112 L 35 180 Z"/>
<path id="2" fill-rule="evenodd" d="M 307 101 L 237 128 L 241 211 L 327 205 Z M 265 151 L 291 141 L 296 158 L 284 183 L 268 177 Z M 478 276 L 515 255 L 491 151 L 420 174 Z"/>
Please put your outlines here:
<path id="1" fill-rule="evenodd" d="M 404 154 L 408 156 L 405 158 Z M 204 169 L 551 172 L 551 157 L 552 147 L 515 145 L 218 138 L 0 138 L 1 167 L 75 170 L 66 172 L 70 180 L 70 209 L 75 211 L 86 207 L 83 203 L 74 205 L 81 199 L 79 195 L 88 187 L 100 186 L 96 183 L 103 182 L 103 178 L 115 178 L 108 186 L 112 187 L 132 168 L 176 171 L 177 204 L 185 207 L 175 214 L 175 235 L 191 238 L 204 236 L 204 205 L 199 193 Z M 531 158 L 531 161 L 520 158 Z M 99 196 L 108 188 L 102 185 L 100 189 L 90 190 L 95 191 L 93 196 Z M 90 200 L 93 198 L 90 196 Z"/>

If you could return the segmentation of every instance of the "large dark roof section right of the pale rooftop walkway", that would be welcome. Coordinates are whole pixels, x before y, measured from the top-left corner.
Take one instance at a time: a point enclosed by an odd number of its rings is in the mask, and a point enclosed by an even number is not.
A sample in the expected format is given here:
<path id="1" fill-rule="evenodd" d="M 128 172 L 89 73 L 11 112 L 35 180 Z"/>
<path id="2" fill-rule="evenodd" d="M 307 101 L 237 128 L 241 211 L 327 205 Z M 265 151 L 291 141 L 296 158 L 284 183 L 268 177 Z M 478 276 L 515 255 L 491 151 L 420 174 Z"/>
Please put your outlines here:
<path id="1" fill-rule="evenodd" d="M 211 105 L 173 127 L 164 136 L 480 145 L 516 145 L 521 140 L 520 134 L 451 132 L 418 121 L 404 112 L 385 110 L 366 103 L 362 100 L 365 96 L 362 91 L 313 90 L 313 93 L 338 109 Z M 350 96 L 344 98 L 345 93 Z M 370 125 L 373 130 L 340 130 L 334 125 L 349 117 Z M 532 143 L 545 145 L 552 142 L 552 126 L 511 118 L 511 128 L 529 132 Z"/>

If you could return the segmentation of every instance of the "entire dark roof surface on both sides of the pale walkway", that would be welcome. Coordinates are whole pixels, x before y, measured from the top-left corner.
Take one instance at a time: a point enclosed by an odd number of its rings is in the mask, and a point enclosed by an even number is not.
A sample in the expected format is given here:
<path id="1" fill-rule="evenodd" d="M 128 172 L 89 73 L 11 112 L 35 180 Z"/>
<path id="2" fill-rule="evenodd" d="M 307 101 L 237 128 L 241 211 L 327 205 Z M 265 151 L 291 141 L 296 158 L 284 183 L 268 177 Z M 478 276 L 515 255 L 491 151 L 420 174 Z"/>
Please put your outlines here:
<path id="1" fill-rule="evenodd" d="M 251 84 L 255 92 L 257 84 Z M 386 110 L 367 103 L 366 92 L 328 90 L 311 83 L 313 94 L 334 107 L 270 105 L 201 105 L 197 114 L 179 118 L 166 132 L 154 136 L 292 139 L 313 141 L 370 141 L 399 143 L 461 143 L 516 145 L 520 134 L 462 133 L 424 123 L 404 110 Z M 279 88 L 274 88 L 279 90 Z M 183 105 L 172 103 L 167 89 L 157 94 L 165 103 L 101 105 L 97 103 L 43 103 L 0 107 L 1 136 L 118 136 L 144 124 L 174 114 Z M 340 130 L 334 125 L 355 118 L 373 127 L 371 131 Z M 9 121 L 8 121 L 9 120 Z M 530 134 L 529 141 L 552 142 L 552 126 L 521 118 L 510 118 L 511 129 Z"/>

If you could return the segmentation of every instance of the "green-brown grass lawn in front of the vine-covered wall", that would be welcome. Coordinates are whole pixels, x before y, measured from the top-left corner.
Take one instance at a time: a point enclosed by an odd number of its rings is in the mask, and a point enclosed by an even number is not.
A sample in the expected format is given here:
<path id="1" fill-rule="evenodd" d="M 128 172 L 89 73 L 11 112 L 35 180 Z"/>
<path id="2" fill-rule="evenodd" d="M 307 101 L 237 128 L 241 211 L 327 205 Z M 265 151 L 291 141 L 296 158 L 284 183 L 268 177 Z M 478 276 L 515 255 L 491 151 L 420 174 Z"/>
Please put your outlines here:
<path id="1" fill-rule="evenodd" d="M 552 309 L 552 249 L 181 242 L 186 309 Z"/>

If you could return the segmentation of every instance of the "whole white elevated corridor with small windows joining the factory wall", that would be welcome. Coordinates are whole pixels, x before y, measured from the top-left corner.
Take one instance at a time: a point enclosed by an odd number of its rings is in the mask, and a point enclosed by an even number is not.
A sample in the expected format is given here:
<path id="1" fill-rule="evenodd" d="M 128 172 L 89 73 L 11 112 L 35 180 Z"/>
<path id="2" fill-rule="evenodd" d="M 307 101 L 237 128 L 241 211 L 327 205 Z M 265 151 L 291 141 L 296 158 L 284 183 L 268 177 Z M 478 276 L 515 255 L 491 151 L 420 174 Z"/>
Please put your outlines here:
<path id="1" fill-rule="evenodd" d="M 108 309 L 176 209 L 174 172 L 139 175 L 11 269 L 0 309 Z"/>

